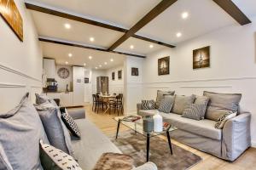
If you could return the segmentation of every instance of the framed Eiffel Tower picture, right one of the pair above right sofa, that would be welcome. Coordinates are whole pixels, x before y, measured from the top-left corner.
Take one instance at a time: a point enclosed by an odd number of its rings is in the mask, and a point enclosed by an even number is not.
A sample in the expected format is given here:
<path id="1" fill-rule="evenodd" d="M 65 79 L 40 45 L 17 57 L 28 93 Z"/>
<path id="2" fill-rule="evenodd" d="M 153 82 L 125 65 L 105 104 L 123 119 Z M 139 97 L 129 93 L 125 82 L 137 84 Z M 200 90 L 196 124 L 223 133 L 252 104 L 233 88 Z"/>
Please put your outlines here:
<path id="1" fill-rule="evenodd" d="M 210 67 L 210 46 L 193 50 L 193 69 Z"/>

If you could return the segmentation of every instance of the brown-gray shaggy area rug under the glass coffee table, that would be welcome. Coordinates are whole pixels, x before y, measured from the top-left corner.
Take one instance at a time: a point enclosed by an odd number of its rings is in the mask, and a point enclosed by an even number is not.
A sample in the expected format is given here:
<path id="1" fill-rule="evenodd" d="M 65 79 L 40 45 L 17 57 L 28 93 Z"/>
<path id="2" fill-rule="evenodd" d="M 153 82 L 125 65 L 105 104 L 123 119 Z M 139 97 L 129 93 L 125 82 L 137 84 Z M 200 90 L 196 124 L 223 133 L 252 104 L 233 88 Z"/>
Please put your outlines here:
<path id="1" fill-rule="evenodd" d="M 143 135 L 128 131 L 119 133 L 117 140 L 114 137 L 110 139 L 119 150 L 133 158 L 136 167 L 146 162 L 146 139 Z M 150 139 L 149 161 L 153 161 L 159 170 L 185 170 L 201 161 L 200 156 L 175 144 L 172 144 L 172 152 L 173 155 L 165 139 L 158 136 Z"/>

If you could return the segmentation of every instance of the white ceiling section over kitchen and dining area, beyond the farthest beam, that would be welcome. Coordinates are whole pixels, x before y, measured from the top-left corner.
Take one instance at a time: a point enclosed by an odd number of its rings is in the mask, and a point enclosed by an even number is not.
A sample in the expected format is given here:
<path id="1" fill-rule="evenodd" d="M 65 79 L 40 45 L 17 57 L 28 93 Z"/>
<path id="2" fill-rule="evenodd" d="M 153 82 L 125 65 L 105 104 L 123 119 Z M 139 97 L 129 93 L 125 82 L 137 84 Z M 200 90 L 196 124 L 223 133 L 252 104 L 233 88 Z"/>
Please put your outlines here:
<path id="1" fill-rule="evenodd" d="M 67 61 L 68 65 L 83 66 L 85 63 L 85 68 L 95 69 L 98 67 L 99 70 L 105 70 L 124 64 L 125 56 L 120 54 L 101 52 L 86 48 L 64 46 L 49 42 L 41 42 L 41 44 L 44 57 L 55 59 L 58 65 L 66 65 Z M 71 58 L 68 56 L 69 53 L 73 54 Z M 89 56 L 92 56 L 92 59 L 89 59 Z M 110 61 L 110 59 L 113 59 L 113 62 Z M 105 65 L 104 62 L 107 62 L 108 65 Z M 99 65 L 102 65 L 102 67 Z"/>

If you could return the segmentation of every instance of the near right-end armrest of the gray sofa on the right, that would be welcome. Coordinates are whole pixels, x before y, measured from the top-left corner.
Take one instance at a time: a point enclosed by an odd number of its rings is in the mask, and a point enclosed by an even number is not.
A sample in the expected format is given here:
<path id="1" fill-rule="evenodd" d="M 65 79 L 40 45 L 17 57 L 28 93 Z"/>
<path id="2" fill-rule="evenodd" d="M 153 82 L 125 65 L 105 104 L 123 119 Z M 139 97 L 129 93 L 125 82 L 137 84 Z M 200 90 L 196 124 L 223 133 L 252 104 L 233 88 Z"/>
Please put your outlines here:
<path id="1" fill-rule="evenodd" d="M 251 113 L 243 112 L 224 124 L 222 156 L 234 161 L 251 146 Z"/>

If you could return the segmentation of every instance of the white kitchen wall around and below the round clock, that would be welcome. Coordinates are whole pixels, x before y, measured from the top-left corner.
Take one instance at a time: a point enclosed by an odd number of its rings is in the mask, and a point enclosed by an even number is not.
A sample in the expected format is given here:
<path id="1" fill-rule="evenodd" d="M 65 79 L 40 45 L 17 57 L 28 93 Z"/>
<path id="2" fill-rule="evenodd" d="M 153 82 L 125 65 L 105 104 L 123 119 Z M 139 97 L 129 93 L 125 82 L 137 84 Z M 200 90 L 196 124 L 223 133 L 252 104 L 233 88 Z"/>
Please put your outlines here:
<path id="1" fill-rule="evenodd" d="M 61 68 L 67 68 L 67 70 L 69 71 L 69 76 L 65 79 L 62 79 L 61 77 L 59 77 L 58 75 L 58 70 Z M 67 84 L 68 84 L 68 90 L 69 91 L 73 91 L 73 70 L 72 70 L 72 66 L 69 65 L 56 65 L 56 71 L 55 71 L 55 80 L 58 82 L 58 91 L 59 92 L 65 92 L 66 88 L 67 88 Z"/>

